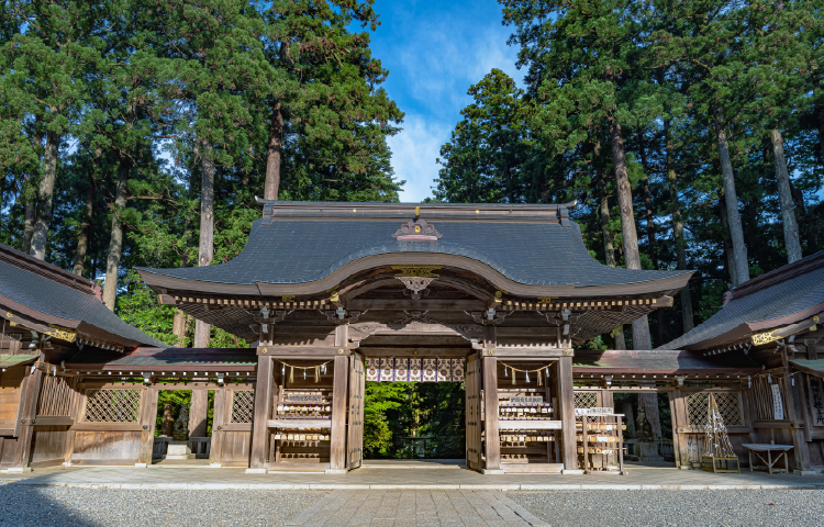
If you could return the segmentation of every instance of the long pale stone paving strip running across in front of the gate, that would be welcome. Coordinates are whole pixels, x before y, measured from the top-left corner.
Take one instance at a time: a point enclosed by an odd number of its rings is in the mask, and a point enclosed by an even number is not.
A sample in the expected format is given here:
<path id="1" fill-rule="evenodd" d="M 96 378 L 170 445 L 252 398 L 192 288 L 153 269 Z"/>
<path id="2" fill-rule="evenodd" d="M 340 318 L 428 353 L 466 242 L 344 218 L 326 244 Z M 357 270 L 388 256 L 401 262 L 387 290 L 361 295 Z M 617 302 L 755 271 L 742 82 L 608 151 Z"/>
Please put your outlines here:
<path id="1" fill-rule="evenodd" d="M 250 490 L 460 490 L 460 491 L 571 491 L 571 490 L 701 490 L 701 489 L 815 489 L 824 476 L 749 472 L 713 474 L 701 470 L 628 467 L 630 475 L 506 474 L 482 475 L 460 468 L 363 468 L 345 475 L 307 473 L 247 474 L 245 469 L 126 467 L 54 467 L 34 472 L 0 473 L 13 484 L 104 489 L 250 489 Z"/>

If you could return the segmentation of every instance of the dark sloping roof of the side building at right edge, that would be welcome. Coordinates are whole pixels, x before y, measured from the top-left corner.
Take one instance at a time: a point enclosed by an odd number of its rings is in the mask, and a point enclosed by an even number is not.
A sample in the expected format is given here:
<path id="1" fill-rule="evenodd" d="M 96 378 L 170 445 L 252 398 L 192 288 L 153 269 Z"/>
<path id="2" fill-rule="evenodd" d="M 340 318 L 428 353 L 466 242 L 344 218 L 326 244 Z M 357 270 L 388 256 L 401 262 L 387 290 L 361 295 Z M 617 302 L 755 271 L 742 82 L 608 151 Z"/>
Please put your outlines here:
<path id="1" fill-rule="evenodd" d="M 805 318 L 808 310 L 821 305 L 824 311 L 824 251 L 784 266 L 769 273 L 769 283 L 755 288 L 751 282 L 765 281 L 762 277 L 742 283 L 732 291 L 732 301 L 706 322 L 658 349 L 699 349 L 702 343 L 731 334 L 731 340 L 751 333 L 754 325 L 764 326 L 777 321 L 776 326 Z M 750 292 L 751 291 L 751 292 Z M 734 332 L 735 333 L 731 333 Z M 722 338 L 723 339 L 723 338 Z M 714 341 L 713 345 L 723 343 Z"/>

